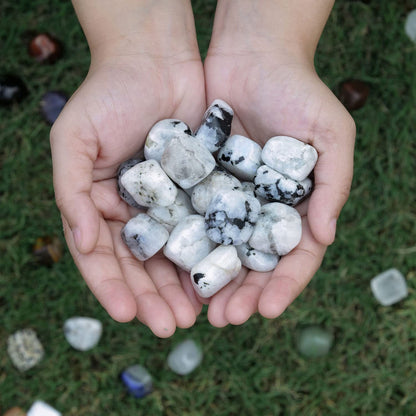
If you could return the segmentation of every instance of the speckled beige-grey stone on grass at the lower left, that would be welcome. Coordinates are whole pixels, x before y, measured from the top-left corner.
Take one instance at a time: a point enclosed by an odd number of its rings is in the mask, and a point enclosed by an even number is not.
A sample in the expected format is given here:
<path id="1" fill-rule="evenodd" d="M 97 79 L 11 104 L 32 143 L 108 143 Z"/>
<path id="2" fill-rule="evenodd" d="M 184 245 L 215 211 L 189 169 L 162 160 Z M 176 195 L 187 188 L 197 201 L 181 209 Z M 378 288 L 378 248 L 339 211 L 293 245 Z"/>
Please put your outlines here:
<path id="1" fill-rule="evenodd" d="M 33 329 L 21 329 L 7 339 L 7 352 L 14 366 L 26 371 L 38 364 L 44 349 Z"/>

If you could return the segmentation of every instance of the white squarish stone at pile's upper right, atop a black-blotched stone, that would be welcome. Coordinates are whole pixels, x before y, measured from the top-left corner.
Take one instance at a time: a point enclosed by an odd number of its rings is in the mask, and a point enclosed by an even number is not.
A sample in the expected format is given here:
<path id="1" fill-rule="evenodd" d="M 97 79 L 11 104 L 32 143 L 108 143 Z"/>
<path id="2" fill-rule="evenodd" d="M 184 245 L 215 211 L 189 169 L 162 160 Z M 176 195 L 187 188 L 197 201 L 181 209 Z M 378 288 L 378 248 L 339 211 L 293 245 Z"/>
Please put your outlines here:
<path id="1" fill-rule="evenodd" d="M 315 167 L 318 152 L 314 147 L 293 137 L 275 136 L 266 142 L 261 157 L 272 169 L 302 181 Z"/>

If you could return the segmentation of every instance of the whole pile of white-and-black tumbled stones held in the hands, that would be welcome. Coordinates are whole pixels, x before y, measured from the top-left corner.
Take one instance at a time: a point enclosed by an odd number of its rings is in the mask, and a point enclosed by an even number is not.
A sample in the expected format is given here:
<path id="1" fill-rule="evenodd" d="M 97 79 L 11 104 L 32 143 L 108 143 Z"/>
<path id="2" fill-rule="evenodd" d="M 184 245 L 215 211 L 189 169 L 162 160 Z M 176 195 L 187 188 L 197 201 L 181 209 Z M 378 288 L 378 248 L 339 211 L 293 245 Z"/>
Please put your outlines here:
<path id="1" fill-rule="evenodd" d="M 118 170 L 121 198 L 139 213 L 122 238 L 145 261 L 164 255 L 190 272 L 195 291 L 210 297 L 242 265 L 266 272 L 302 235 L 293 208 L 312 190 L 316 150 L 287 136 L 263 149 L 231 133 L 233 110 L 222 100 L 207 109 L 195 134 L 180 120 L 161 120 L 144 151 Z"/>

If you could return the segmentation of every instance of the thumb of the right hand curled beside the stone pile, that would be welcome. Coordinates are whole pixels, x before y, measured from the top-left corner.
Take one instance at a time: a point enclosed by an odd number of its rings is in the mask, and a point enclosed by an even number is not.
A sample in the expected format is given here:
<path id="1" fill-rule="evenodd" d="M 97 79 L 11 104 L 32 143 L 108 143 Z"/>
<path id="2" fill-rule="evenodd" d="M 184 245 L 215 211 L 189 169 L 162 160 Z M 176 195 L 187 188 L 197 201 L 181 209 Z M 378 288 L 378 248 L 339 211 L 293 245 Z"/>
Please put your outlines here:
<path id="1" fill-rule="evenodd" d="M 337 219 L 348 199 L 353 174 L 355 125 L 352 119 L 339 124 L 337 131 L 338 136 L 319 139 L 315 144 L 319 158 L 308 218 L 314 237 L 324 245 L 334 241 Z"/>

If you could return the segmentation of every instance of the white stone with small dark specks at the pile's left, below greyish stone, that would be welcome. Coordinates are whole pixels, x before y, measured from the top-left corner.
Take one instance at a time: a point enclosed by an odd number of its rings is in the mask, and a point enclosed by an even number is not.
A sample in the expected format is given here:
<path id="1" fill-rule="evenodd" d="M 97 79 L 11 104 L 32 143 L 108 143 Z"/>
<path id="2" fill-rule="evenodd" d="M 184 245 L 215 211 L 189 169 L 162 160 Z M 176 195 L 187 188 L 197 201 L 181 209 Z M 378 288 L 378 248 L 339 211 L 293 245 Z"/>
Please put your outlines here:
<path id="1" fill-rule="evenodd" d="M 120 177 L 121 185 L 144 207 L 172 205 L 178 190 L 156 160 L 145 160 Z"/>

